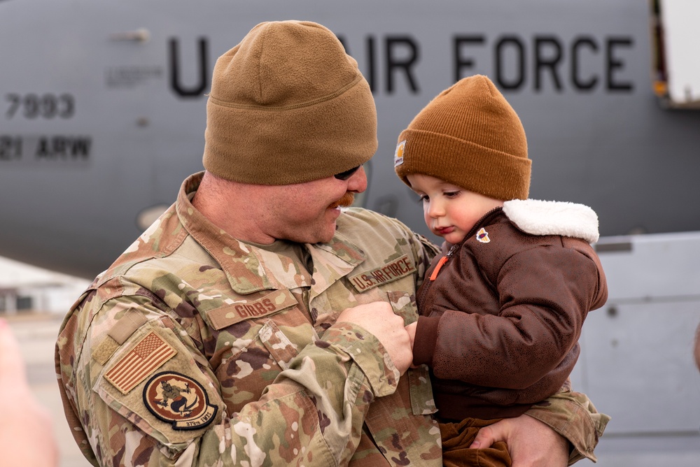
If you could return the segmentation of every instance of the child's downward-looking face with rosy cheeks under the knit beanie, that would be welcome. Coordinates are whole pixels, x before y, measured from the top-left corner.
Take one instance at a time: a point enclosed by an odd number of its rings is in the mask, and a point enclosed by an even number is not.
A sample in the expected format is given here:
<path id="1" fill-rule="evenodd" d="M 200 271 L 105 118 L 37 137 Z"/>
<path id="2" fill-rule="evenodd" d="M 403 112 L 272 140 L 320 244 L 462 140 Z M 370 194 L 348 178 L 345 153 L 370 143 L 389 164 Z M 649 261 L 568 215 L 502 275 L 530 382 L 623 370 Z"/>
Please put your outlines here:
<path id="1" fill-rule="evenodd" d="M 433 234 L 449 243 L 459 243 L 474 224 L 503 201 L 470 192 L 439 178 L 412 173 L 407 175 L 411 188 L 421 196 L 426 225 Z"/>

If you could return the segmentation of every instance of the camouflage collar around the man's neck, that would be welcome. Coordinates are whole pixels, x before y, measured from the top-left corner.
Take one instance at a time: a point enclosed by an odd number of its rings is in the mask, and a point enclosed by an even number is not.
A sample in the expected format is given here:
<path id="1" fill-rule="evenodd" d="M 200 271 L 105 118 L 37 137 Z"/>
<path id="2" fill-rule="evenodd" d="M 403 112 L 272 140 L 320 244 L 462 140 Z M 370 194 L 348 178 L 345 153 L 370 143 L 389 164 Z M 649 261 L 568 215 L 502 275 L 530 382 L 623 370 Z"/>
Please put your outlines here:
<path id="1" fill-rule="evenodd" d="M 195 209 L 190 195 L 197 191 L 202 175 L 203 172 L 190 175 L 183 182 L 176 211 L 189 234 L 221 265 L 235 292 L 250 294 L 265 289 L 323 288 L 326 281 L 311 280 L 311 275 L 304 268 L 276 268 L 274 272 L 271 271 L 269 266 L 279 264 L 279 255 L 240 242 Z M 307 247 L 314 260 L 314 268 L 328 280 L 337 280 L 346 275 L 365 259 L 360 248 L 337 232 L 329 243 Z"/>

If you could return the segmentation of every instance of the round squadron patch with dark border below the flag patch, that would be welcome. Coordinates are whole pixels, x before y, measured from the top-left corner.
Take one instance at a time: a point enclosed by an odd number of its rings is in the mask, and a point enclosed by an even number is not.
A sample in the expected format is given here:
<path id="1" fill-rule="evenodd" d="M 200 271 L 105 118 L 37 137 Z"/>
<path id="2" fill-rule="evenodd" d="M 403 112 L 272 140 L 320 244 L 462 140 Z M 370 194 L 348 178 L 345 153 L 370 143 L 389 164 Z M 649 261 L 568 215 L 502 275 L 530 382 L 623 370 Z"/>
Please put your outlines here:
<path id="1" fill-rule="evenodd" d="M 188 376 L 164 371 L 153 376 L 144 388 L 144 404 L 174 430 L 196 430 L 214 421 L 218 407 L 209 403 L 207 392 Z"/>

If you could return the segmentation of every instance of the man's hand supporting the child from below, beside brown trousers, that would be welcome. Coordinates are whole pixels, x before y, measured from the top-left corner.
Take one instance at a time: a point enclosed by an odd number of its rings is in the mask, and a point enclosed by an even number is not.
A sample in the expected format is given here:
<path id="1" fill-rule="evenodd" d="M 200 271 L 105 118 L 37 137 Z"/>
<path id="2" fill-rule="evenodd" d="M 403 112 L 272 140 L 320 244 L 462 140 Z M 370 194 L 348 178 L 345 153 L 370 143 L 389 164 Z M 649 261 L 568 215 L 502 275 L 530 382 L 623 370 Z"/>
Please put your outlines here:
<path id="1" fill-rule="evenodd" d="M 505 441 L 513 467 L 566 467 L 568 441 L 529 415 L 503 419 L 479 430 L 470 447 L 486 448 Z"/>

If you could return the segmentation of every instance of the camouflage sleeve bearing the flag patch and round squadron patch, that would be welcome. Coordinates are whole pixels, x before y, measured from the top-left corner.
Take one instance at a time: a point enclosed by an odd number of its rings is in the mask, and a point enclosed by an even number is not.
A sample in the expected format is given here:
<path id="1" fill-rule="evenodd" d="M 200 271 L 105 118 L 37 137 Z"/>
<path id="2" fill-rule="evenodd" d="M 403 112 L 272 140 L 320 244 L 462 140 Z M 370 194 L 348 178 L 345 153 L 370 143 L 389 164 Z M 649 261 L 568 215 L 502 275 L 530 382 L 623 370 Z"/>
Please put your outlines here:
<path id="1" fill-rule="evenodd" d="M 339 323 L 290 359 L 258 401 L 229 413 L 223 382 L 169 316 L 123 302 L 106 315 L 73 315 L 57 342 L 69 423 L 95 465 L 346 464 L 370 402 L 398 384 L 379 340 Z M 116 315 L 133 321 L 135 331 L 119 336 L 112 326 L 102 338 Z M 123 362 L 134 360 L 125 371 Z"/>

